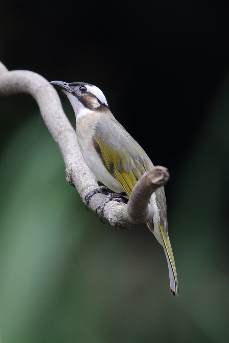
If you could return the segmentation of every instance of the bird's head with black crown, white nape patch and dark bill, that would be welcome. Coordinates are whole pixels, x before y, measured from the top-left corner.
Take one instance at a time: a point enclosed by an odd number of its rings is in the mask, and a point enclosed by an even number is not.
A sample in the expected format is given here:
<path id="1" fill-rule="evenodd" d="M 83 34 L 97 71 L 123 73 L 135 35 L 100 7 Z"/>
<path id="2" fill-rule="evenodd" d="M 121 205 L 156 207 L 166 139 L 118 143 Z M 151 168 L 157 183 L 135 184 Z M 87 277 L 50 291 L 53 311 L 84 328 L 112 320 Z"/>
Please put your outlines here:
<path id="1" fill-rule="evenodd" d="M 51 81 L 50 83 L 64 91 L 69 98 L 76 117 L 81 117 L 88 111 L 98 111 L 108 108 L 103 92 L 90 83 L 66 83 L 62 81 Z"/>

